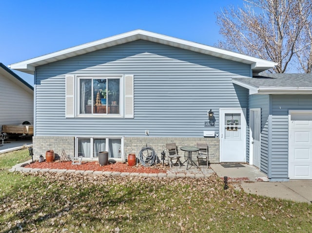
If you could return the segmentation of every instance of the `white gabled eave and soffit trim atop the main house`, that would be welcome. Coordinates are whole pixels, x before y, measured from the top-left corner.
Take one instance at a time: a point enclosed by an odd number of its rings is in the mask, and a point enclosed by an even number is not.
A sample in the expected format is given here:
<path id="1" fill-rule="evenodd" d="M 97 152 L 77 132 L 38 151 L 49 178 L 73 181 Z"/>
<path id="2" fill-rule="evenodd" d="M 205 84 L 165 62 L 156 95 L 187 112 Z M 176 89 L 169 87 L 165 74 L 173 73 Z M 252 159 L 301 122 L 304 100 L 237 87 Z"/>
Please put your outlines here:
<path id="1" fill-rule="evenodd" d="M 55 53 L 42 55 L 29 60 L 21 61 L 10 66 L 11 69 L 34 74 L 37 66 L 45 65 L 51 62 L 59 61 L 69 57 L 90 53 L 96 50 L 116 46 L 119 44 L 128 43 L 135 40 L 148 40 L 155 43 L 165 44 L 181 49 L 191 50 L 197 53 L 208 54 L 224 59 L 229 59 L 237 62 L 242 62 L 251 65 L 254 73 L 259 73 L 275 66 L 274 62 L 234 53 L 231 51 L 218 49 L 215 47 L 198 44 L 195 42 L 178 39 L 171 36 L 164 36 L 148 31 L 135 30 L 128 33 L 111 36 L 108 38 L 100 39 L 90 43 L 78 45 L 69 49 L 64 49 Z"/>

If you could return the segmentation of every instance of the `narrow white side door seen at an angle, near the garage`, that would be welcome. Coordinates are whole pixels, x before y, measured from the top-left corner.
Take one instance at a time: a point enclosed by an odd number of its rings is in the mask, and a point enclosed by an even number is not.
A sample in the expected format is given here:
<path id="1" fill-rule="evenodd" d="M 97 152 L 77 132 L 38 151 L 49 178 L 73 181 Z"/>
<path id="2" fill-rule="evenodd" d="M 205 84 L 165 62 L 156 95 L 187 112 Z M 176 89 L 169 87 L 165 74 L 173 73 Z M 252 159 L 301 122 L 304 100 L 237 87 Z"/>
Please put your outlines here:
<path id="1" fill-rule="evenodd" d="M 250 109 L 250 161 L 260 168 L 261 158 L 261 109 Z"/>

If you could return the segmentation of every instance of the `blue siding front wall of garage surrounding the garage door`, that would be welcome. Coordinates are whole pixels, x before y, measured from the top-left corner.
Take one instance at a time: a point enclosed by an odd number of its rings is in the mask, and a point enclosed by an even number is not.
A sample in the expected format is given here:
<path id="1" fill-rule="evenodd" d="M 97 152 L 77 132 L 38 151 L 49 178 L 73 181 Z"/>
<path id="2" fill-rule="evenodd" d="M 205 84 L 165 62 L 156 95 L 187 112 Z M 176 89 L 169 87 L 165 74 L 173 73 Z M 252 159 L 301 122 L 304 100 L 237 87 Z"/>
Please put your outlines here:
<path id="1" fill-rule="evenodd" d="M 312 95 L 272 95 L 272 179 L 288 179 L 288 113 L 302 109 L 312 109 Z"/>

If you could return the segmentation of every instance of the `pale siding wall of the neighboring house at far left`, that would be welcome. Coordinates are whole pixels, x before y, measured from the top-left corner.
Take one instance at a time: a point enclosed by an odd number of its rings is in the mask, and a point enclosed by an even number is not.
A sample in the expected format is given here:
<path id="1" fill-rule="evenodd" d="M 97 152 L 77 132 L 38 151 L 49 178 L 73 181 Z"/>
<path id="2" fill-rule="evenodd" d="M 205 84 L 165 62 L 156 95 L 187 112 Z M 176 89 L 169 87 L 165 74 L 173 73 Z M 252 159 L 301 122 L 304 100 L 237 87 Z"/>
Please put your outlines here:
<path id="1" fill-rule="evenodd" d="M 24 121 L 34 123 L 34 94 L 0 74 L 0 127 L 2 125 L 22 124 Z M 20 84 L 24 85 L 24 84 Z"/>

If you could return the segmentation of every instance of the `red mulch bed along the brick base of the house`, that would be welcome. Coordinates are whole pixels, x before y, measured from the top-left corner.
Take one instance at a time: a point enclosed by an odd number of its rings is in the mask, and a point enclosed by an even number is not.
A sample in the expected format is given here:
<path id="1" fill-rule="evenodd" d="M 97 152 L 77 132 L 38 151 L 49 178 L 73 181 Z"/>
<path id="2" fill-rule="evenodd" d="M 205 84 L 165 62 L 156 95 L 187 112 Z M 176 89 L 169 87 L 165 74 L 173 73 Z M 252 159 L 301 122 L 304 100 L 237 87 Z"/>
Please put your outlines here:
<path id="1" fill-rule="evenodd" d="M 49 169 L 67 169 L 67 170 L 92 170 L 92 171 L 110 171 L 110 172 L 137 172 L 137 173 L 166 173 L 168 167 L 156 164 L 151 167 L 144 167 L 141 164 L 138 166 L 129 166 L 127 163 L 116 162 L 109 163 L 105 166 L 100 166 L 97 161 L 82 161 L 80 165 L 72 164 L 72 161 L 54 161 L 54 162 L 33 162 L 27 164 L 29 168 L 49 168 Z"/>

